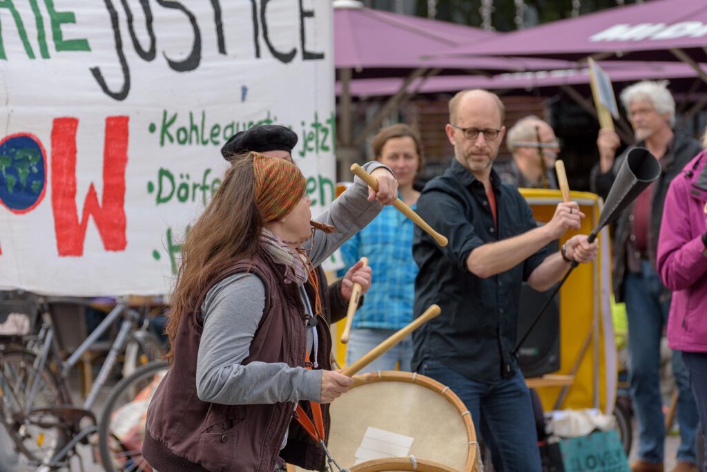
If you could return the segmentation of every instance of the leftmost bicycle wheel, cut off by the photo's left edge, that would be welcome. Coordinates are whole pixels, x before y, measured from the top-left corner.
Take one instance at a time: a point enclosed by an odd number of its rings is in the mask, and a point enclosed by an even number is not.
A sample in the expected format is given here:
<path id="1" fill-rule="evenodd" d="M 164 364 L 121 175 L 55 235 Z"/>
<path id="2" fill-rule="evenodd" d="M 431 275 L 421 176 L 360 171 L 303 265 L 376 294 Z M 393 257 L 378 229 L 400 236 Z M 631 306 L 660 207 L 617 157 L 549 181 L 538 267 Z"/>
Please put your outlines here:
<path id="1" fill-rule="evenodd" d="M 66 444 L 66 430 L 56 416 L 35 410 L 69 403 L 54 372 L 46 365 L 37 372 L 38 363 L 33 352 L 0 352 L 0 422 L 21 459 L 35 465 Z M 35 379 L 36 393 L 30 398 Z"/>

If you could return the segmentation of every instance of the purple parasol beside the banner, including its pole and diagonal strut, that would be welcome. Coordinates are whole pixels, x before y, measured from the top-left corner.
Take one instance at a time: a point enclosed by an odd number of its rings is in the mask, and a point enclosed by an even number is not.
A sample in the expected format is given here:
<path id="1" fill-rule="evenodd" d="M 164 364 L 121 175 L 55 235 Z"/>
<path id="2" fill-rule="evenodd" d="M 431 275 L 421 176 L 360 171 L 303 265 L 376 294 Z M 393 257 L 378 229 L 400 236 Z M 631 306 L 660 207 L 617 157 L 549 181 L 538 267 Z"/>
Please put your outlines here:
<path id="1" fill-rule="evenodd" d="M 422 76 L 479 74 L 492 71 L 527 71 L 571 67 L 554 59 L 503 57 L 448 57 L 423 59 L 440 50 L 453 50 L 462 42 L 485 42 L 501 36 L 470 26 L 433 21 L 415 16 L 397 15 L 364 8 L 360 1 L 334 1 L 334 64 L 341 81 L 340 122 L 337 127 L 337 154 L 355 154 L 354 146 L 379 129 L 390 111 L 409 93 L 409 83 Z M 348 85 L 354 79 L 405 78 L 397 83 L 395 93 L 354 136 L 351 94 Z M 351 161 L 353 162 L 353 161 Z M 344 165 L 347 168 L 348 165 Z"/>

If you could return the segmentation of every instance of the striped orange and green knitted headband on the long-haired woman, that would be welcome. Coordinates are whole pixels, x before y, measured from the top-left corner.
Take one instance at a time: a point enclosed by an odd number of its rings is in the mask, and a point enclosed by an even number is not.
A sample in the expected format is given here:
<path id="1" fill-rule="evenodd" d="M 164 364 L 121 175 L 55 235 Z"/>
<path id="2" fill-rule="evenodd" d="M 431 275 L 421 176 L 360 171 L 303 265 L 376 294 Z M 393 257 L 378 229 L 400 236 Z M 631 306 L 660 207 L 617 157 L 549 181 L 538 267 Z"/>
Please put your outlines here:
<path id="1" fill-rule="evenodd" d="M 255 205 L 264 223 L 283 219 L 305 195 L 307 180 L 286 159 L 250 153 L 255 173 Z"/>

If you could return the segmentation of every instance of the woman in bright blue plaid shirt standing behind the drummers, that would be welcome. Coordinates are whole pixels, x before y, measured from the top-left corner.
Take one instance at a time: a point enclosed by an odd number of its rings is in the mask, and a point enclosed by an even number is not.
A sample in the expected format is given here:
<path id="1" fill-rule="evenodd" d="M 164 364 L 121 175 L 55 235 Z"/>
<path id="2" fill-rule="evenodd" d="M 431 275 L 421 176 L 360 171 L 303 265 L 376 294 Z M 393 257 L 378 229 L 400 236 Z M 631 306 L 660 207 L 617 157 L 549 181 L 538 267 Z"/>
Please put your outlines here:
<path id="1" fill-rule="evenodd" d="M 412 184 L 422 169 L 419 135 L 408 125 L 385 127 L 373 138 L 373 158 L 395 173 L 399 198 L 416 209 L 420 193 Z M 373 268 L 373 287 L 366 305 L 358 309 L 351 328 L 346 362 L 351 364 L 412 321 L 417 265 L 412 258 L 414 224 L 393 207 L 385 207 L 373 221 L 341 246 L 347 266 L 366 256 Z M 362 372 L 410 370 L 412 340 L 406 338 Z"/>

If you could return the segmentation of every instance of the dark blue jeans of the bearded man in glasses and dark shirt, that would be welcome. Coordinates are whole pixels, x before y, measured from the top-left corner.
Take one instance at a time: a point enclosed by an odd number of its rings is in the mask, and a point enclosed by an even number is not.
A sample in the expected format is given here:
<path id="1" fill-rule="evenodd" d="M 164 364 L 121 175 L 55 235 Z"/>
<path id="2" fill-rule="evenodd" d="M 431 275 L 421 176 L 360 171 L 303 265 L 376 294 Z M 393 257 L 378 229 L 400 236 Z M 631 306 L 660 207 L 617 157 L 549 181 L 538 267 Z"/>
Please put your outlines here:
<path id="1" fill-rule="evenodd" d="M 457 374 L 441 362 L 426 359 L 420 374 L 448 386 L 469 408 L 477 435 L 491 449 L 498 472 L 540 472 L 540 449 L 530 400 L 522 374 L 484 384 Z"/>

